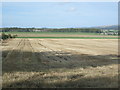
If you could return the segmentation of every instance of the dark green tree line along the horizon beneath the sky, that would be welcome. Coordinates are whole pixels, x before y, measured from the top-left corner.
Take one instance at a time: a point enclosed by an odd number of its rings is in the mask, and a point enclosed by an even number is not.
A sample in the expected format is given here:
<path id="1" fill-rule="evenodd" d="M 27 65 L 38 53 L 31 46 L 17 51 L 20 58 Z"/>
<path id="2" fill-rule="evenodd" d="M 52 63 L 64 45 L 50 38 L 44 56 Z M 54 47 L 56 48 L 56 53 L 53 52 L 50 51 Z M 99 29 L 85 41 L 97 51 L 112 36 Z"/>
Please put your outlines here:
<path id="1" fill-rule="evenodd" d="M 1 32 L 87 32 L 101 33 L 101 29 L 96 28 L 0 28 Z"/>

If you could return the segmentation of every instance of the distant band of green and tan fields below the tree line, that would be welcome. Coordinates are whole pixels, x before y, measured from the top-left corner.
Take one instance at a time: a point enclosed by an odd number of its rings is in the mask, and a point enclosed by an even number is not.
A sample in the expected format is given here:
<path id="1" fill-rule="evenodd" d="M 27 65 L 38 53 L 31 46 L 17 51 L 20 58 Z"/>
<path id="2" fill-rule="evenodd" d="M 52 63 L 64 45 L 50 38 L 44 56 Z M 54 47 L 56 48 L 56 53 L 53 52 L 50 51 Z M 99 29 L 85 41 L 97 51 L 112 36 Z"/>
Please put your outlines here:
<path id="1" fill-rule="evenodd" d="M 118 39 L 115 35 L 82 32 L 5 32 L 17 34 L 17 38 L 53 38 L 53 39 Z M 105 36 L 105 37 L 104 37 Z"/>

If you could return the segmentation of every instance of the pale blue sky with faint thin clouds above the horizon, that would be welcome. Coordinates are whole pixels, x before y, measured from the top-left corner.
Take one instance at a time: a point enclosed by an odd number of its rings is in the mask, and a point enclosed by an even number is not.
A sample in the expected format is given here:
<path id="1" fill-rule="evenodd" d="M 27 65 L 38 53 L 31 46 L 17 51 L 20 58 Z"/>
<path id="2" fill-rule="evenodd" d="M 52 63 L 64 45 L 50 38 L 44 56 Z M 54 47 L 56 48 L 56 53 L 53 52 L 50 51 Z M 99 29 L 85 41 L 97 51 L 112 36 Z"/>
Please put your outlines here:
<path id="1" fill-rule="evenodd" d="M 116 25 L 117 2 L 4 2 L 3 27 L 92 27 Z"/>

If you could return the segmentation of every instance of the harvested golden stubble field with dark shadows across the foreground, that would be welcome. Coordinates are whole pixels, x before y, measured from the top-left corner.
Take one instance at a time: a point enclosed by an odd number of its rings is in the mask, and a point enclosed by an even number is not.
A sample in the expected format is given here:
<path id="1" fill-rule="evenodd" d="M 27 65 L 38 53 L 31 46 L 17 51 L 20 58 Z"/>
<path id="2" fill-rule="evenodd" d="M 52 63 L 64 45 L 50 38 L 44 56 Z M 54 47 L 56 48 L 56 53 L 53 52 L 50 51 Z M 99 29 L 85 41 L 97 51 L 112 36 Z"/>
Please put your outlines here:
<path id="1" fill-rule="evenodd" d="M 2 43 L 3 88 L 118 87 L 118 39 Z"/>

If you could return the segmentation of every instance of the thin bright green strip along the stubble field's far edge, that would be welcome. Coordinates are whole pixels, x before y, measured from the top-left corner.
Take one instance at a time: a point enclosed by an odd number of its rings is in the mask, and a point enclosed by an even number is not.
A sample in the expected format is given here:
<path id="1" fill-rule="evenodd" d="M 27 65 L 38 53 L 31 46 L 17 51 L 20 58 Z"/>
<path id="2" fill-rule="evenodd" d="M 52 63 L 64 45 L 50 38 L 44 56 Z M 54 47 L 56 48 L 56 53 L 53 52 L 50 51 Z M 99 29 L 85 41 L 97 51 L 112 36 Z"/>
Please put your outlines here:
<path id="1" fill-rule="evenodd" d="M 51 39 L 120 39 L 118 37 L 16 37 L 16 38 L 51 38 Z"/>

